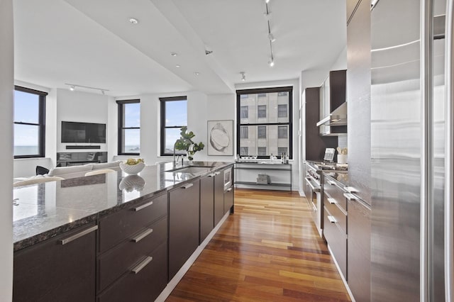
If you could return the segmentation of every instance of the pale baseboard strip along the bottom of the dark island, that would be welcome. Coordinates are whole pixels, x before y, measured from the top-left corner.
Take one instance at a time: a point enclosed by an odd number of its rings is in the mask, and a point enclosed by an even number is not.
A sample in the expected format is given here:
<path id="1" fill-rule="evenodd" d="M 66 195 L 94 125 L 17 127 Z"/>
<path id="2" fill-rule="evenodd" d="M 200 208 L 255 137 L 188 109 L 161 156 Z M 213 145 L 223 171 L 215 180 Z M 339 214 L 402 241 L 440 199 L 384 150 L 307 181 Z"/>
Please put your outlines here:
<path id="1" fill-rule="evenodd" d="M 187 262 L 183 264 L 182 268 L 179 269 L 177 274 L 170 280 L 170 282 L 165 286 L 165 289 L 160 293 L 159 296 L 157 296 L 155 302 L 163 302 L 167 299 L 168 296 L 170 296 L 170 293 L 175 289 L 179 281 L 183 278 L 184 274 L 186 274 L 187 271 L 191 268 L 192 264 L 196 261 L 197 257 L 201 254 L 201 252 L 204 250 L 206 245 L 208 245 L 208 242 L 210 242 L 211 238 L 216 234 L 216 232 L 221 228 L 221 225 L 227 220 L 228 216 L 230 215 L 230 211 L 224 215 L 224 217 L 219 221 L 218 225 L 211 230 L 211 233 L 209 233 L 208 236 L 206 236 L 205 240 L 201 242 L 199 247 L 196 248 L 196 250 L 192 253 L 191 257 L 187 259 Z"/>

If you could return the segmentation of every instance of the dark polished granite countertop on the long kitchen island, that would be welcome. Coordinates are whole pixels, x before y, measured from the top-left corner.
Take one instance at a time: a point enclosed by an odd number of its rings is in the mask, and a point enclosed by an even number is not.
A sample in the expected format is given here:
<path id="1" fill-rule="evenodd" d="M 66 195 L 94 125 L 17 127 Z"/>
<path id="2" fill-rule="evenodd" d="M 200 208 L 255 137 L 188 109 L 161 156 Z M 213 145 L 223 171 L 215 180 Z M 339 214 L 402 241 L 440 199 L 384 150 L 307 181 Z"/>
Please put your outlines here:
<path id="1" fill-rule="evenodd" d="M 172 162 L 146 166 L 138 175 L 121 170 L 89 177 L 50 181 L 13 189 L 13 248 L 21 250 L 67 230 L 90 223 L 177 186 L 203 177 L 231 162 L 193 162 L 188 172 Z M 178 166 L 182 167 L 182 166 Z M 187 166 L 185 163 L 184 167 Z M 206 167 L 201 168 L 201 167 Z"/>

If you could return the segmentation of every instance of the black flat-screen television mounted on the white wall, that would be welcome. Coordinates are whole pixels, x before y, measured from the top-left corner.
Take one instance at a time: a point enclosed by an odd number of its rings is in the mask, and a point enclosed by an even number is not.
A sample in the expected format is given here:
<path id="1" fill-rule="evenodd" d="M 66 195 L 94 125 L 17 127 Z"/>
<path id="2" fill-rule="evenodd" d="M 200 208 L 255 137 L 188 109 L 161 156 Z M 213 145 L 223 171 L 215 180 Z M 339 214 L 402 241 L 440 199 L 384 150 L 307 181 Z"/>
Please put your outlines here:
<path id="1" fill-rule="evenodd" d="M 106 124 L 62 121 L 62 142 L 106 142 Z"/>

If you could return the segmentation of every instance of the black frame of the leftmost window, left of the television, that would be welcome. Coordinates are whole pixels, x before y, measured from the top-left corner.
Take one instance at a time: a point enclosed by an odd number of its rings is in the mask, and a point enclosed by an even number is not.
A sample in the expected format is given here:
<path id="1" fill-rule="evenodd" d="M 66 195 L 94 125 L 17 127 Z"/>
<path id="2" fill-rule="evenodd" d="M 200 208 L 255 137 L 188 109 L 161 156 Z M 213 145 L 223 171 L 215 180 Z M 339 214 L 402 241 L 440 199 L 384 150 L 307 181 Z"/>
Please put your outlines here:
<path id="1" fill-rule="evenodd" d="M 25 123 L 13 121 L 13 125 L 35 125 L 38 126 L 38 154 L 33 155 L 14 155 L 14 159 L 18 158 L 34 158 L 45 157 L 45 97 L 48 95 L 45 91 L 39 91 L 23 86 L 14 86 L 15 91 L 26 92 L 28 94 L 36 94 L 38 98 L 38 123 Z M 14 117 L 13 117 L 14 118 Z M 15 144 L 13 143 L 13 147 Z"/>

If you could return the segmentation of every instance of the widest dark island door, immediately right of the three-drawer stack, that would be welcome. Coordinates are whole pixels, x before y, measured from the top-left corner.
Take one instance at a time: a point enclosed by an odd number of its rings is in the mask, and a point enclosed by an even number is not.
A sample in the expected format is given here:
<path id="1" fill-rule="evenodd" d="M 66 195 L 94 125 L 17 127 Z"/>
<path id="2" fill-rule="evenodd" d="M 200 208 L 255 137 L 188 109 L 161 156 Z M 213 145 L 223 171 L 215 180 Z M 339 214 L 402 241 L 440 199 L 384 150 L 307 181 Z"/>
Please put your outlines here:
<path id="1" fill-rule="evenodd" d="M 199 246 L 199 180 L 169 192 L 169 280 Z"/>

